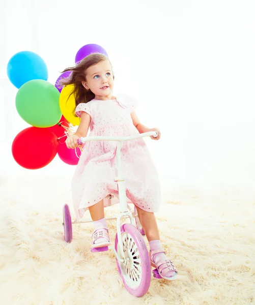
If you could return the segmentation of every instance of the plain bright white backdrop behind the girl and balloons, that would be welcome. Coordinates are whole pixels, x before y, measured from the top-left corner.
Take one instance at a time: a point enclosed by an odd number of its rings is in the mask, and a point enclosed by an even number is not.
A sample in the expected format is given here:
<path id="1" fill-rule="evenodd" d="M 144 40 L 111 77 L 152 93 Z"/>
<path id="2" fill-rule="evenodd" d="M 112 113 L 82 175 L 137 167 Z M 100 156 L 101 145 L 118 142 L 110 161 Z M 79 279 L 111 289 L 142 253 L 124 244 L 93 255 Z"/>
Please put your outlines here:
<path id="1" fill-rule="evenodd" d="M 114 66 L 115 93 L 137 97 L 141 121 L 162 130 L 147 142 L 163 184 L 255 182 L 254 16 L 252 0 L 4 0 L 0 168 L 20 171 L 11 141 L 27 127 L 7 78 L 10 57 L 38 53 L 54 84 L 81 46 L 96 43 Z M 73 170 L 56 157 L 38 172 Z"/>

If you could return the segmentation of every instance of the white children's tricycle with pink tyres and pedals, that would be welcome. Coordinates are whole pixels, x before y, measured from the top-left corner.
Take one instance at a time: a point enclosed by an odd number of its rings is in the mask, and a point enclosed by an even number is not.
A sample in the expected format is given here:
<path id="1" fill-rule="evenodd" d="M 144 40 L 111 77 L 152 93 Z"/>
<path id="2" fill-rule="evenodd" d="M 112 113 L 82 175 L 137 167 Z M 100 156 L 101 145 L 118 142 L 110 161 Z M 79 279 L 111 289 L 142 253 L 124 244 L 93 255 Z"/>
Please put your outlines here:
<path id="1" fill-rule="evenodd" d="M 108 249 L 114 251 L 117 266 L 119 273 L 122 277 L 125 288 L 129 293 L 135 296 L 143 296 L 150 287 L 151 281 L 151 263 L 148 254 L 148 250 L 143 239 L 145 235 L 144 229 L 141 226 L 137 209 L 134 206 L 134 211 L 131 211 L 127 203 L 126 197 L 126 185 L 125 180 L 122 173 L 122 163 L 121 163 L 121 147 L 124 141 L 135 140 L 144 137 L 157 137 L 158 133 L 156 131 L 146 132 L 134 136 L 127 137 L 84 137 L 78 139 L 78 144 L 81 145 L 87 141 L 117 141 L 117 150 L 116 150 L 116 159 L 117 159 L 117 177 L 115 181 L 118 184 L 118 195 L 109 194 L 107 197 L 111 200 L 111 195 L 116 196 L 119 199 L 120 204 L 120 214 L 118 217 L 107 218 L 106 220 L 117 220 L 117 236 L 115 239 L 115 246 L 107 246 L 107 247 L 92 247 L 92 252 L 102 252 L 107 251 Z M 107 198 L 106 197 L 106 198 Z M 130 224 L 122 224 L 122 220 L 126 220 L 129 218 Z M 72 240 L 72 224 L 81 224 L 81 223 L 89 223 L 93 222 L 92 220 L 77 220 L 74 222 L 71 221 L 70 211 L 67 204 L 63 207 L 63 226 L 65 233 L 65 240 L 70 242 Z M 124 237 L 122 234 L 124 233 Z M 124 239 L 123 239 L 124 238 Z M 123 241 L 124 240 L 124 241 Z M 128 246 L 127 246 L 128 244 Z M 124 249 L 125 247 L 125 249 Z M 126 247 L 129 247 L 127 250 Z M 126 252 L 126 254 L 124 253 Z M 138 264 L 138 265 L 137 265 Z M 126 271 L 123 270 L 123 267 Z M 138 269 L 138 267 L 140 269 Z M 135 271 L 138 270 L 138 271 Z M 138 272 L 138 273 L 137 273 Z M 136 274 L 135 274 L 136 273 Z M 160 279 L 160 275 L 158 273 L 157 268 L 153 270 L 153 276 L 155 278 Z"/>

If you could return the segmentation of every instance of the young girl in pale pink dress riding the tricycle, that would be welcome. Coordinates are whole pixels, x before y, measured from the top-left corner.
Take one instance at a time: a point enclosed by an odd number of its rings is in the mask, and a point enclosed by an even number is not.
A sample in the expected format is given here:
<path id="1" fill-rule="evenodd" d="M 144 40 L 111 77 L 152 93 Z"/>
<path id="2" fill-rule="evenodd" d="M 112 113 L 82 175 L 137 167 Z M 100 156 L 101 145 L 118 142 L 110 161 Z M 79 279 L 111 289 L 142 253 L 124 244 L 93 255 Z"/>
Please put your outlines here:
<path id="1" fill-rule="evenodd" d="M 114 74 L 109 59 L 99 53 L 83 58 L 73 68 L 63 85 L 74 85 L 76 115 L 80 125 L 74 135 L 66 140 L 68 148 L 77 147 L 77 140 L 90 136 L 130 136 L 148 131 L 160 131 L 148 128 L 140 123 L 135 113 L 137 103 L 134 99 L 118 95 L 114 97 Z M 118 192 L 117 160 L 114 141 L 88 141 L 77 165 L 73 181 L 72 194 L 77 219 L 84 211 L 90 210 L 95 230 L 92 235 L 92 247 L 110 244 L 106 220 L 104 218 L 103 199 Z M 126 181 L 126 195 L 135 204 L 141 225 L 150 245 L 151 263 L 158 268 L 166 280 L 175 280 L 177 270 L 167 259 L 162 249 L 159 231 L 154 216 L 160 205 L 160 186 L 157 171 L 151 160 L 149 150 L 143 139 L 125 141 L 122 149 L 123 175 Z M 106 201 L 107 202 L 107 201 Z"/>

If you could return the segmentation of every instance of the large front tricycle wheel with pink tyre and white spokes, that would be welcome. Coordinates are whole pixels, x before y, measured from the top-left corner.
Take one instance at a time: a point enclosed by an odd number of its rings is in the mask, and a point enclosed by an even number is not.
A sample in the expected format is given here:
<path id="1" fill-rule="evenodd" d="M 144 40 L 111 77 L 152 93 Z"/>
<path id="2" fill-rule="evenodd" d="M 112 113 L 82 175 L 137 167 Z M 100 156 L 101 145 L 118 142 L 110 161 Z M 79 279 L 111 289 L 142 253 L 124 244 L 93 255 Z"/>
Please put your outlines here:
<path id="1" fill-rule="evenodd" d="M 121 236 L 126 265 L 117 261 L 117 267 L 127 291 L 134 296 L 147 293 L 151 283 L 151 263 L 143 236 L 131 224 L 121 226 Z M 122 257 L 118 245 L 118 235 L 115 237 L 115 249 Z"/>

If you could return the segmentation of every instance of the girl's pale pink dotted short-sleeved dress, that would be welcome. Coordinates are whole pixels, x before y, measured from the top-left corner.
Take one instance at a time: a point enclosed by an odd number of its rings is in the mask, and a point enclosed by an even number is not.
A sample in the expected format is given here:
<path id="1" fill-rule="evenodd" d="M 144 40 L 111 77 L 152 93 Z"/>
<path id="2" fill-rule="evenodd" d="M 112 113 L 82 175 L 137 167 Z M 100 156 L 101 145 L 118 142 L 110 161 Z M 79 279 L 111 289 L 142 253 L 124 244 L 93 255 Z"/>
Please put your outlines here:
<path id="1" fill-rule="evenodd" d="M 115 100 L 92 100 L 80 103 L 76 114 L 91 116 L 89 136 L 130 136 L 139 134 L 130 113 L 136 100 L 118 95 Z M 77 220 L 89 206 L 118 192 L 115 141 L 88 141 L 84 143 L 80 160 L 72 180 L 72 195 Z M 139 208 L 156 212 L 160 205 L 160 186 L 157 170 L 144 139 L 125 141 L 121 149 L 122 171 L 126 195 Z M 107 206 L 107 200 L 104 205 Z"/>

